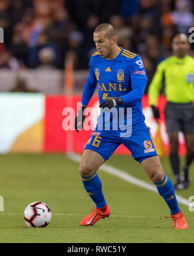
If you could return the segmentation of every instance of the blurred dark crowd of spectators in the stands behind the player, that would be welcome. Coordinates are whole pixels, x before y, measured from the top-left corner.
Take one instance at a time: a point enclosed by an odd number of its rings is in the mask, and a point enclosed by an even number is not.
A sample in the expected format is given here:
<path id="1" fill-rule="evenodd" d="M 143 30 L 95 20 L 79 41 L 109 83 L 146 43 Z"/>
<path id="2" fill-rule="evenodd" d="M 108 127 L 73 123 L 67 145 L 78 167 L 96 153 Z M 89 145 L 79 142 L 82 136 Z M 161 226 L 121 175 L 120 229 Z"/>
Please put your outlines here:
<path id="1" fill-rule="evenodd" d="M 1 0 L 0 68 L 63 69 L 71 56 L 75 69 L 88 69 L 93 30 L 103 22 L 118 30 L 120 47 L 140 54 L 150 81 L 173 35 L 194 27 L 193 1 Z"/>

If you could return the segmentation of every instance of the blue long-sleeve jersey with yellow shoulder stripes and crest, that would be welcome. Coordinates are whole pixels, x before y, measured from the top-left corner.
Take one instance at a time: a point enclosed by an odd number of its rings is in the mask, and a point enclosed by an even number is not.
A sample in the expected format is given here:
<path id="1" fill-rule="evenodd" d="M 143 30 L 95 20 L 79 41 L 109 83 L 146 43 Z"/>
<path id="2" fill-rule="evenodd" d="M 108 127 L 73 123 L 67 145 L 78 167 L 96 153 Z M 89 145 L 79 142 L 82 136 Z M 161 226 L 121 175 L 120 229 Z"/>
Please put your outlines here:
<path id="1" fill-rule="evenodd" d="M 142 113 L 142 97 L 147 84 L 144 64 L 138 54 L 121 49 L 120 54 L 113 60 L 102 58 L 98 52 L 94 52 L 89 62 L 90 73 L 85 84 L 81 104 L 87 106 L 89 100 L 98 86 L 100 104 L 108 99 L 121 97 L 124 104 L 111 113 L 111 129 L 123 130 L 122 126 L 136 126 L 145 121 Z M 122 108 L 123 112 L 119 109 Z M 120 115 L 119 115 L 120 112 Z M 122 117 L 122 121 L 113 125 L 115 117 Z M 101 110 L 98 117 L 98 125 L 105 127 L 105 113 Z M 130 119 L 131 122 L 128 122 Z M 109 120 L 108 120 L 109 121 Z M 113 128 L 114 126 L 114 128 Z"/>

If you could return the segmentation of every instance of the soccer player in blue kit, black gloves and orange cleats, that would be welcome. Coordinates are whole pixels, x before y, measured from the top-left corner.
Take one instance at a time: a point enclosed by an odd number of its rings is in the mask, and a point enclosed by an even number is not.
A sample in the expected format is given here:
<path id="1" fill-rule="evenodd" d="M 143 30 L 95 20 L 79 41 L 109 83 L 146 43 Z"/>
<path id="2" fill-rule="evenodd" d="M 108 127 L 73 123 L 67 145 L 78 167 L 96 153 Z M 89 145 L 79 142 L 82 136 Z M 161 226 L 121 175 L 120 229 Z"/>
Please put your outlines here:
<path id="1" fill-rule="evenodd" d="M 96 27 L 93 38 L 97 52 L 89 62 L 89 78 L 83 89 L 75 128 L 77 132 L 83 128 L 85 108 L 98 86 L 101 112 L 80 161 L 83 186 L 96 207 L 81 220 L 81 225 L 93 225 L 111 214 L 97 170 L 123 143 L 155 183 L 171 211 L 175 229 L 187 229 L 173 184 L 162 169 L 149 127 L 144 122 L 141 102 L 147 84 L 144 64 L 138 54 L 118 47 L 116 30 L 109 23 Z"/>

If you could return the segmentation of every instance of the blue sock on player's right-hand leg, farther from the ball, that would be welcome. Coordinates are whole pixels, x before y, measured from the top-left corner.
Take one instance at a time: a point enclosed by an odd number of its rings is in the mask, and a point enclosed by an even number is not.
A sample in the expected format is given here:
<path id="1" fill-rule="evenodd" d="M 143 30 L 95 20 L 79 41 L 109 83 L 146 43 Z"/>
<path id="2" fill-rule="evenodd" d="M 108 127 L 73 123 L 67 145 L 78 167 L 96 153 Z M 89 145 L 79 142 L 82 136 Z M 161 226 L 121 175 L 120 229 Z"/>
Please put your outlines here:
<path id="1" fill-rule="evenodd" d="M 164 198 L 167 206 L 171 210 L 171 215 L 179 213 L 180 209 L 178 207 L 177 198 L 175 196 L 175 190 L 171 180 L 167 178 L 166 174 L 164 176 L 164 180 L 161 183 L 155 183 L 155 185 L 160 196 Z"/>

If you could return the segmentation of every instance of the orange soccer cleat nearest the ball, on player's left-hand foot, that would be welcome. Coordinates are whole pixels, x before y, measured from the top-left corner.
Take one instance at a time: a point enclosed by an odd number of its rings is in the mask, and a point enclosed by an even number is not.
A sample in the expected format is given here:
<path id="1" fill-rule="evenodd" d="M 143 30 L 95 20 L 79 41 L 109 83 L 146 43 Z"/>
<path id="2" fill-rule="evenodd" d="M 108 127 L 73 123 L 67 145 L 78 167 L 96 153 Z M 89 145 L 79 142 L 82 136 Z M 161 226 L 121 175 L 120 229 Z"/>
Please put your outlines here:
<path id="1" fill-rule="evenodd" d="M 98 208 L 92 208 L 91 214 L 83 218 L 80 224 L 82 226 L 92 226 L 96 222 L 98 222 L 98 220 L 100 220 L 101 218 L 109 217 L 110 214 L 111 214 L 111 211 L 110 211 L 109 205 L 107 205 L 107 209 L 105 211 L 100 211 L 100 209 Z"/>

